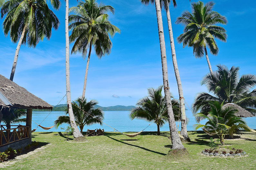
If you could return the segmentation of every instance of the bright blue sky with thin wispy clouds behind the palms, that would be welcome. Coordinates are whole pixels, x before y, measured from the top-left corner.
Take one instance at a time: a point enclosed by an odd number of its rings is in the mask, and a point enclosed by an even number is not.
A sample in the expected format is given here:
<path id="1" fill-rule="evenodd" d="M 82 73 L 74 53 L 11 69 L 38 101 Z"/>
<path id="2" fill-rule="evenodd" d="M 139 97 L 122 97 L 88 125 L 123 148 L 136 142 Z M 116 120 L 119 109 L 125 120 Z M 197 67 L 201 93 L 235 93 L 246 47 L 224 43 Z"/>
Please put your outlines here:
<path id="1" fill-rule="evenodd" d="M 110 55 L 99 60 L 92 53 L 86 97 L 96 99 L 101 106 L 135 105 L 139 98 L 147 95 L 147 88 L 162 84 L 162 68 L 156 13 L 153 5 L 144 6 L 139 0 L 98 0 L 112 5 L 115 14 L 110 21 L 121 34 L 112 39 Z M 192 1 L 195 2 L 195 1 Z M 203 1 L 208 2 L 208 1 Z M 218 56 L 209 55 L 213 70 L 217 64 L 240 66 L 240 73 L 253 73 L 255 70 L 256 1 L 248 0 L 241 4 L 238 0 L 215 0 L 214 11 L 225 15 L 228 24 L 226 43 L 217 40 L 220 52 Z M 70 1 L 70 7 L 76 5 Z M 183 30 L 182 25 L 174 22 L 184 10 L 191 11 L 189 1 L 177 0 L 177 7 L 170 6 L 172 29 L 177 38 Z M 52 32 L 48 41 L 44 39 L 35 49 L 22 46 L 19 53 L 14 82 L 34 95 L 56 105 L 65 95 L 65 4 L 54 11 L 60 20 L 57 31 Z M 178 98 L 178 89 L 172 66 L 171 48 L 165 12 L 162 11 L 166 42 L 167 64 L 170 90 Z M 1 20 L 1 23 L 3 20 Z M 13 64 L 16 44 L 0 32 L 0 74 L 9 78 Z M 72 48 L 72 44 L 70 45 Z M 193 98 L 200 91 L 206 91 L 200 85 L 202 77 L 209 72 L 205 57 L 196 59 L 192 49 L 175 41 L 177 62 L 182 80 L 183 93 L 191 106 Z M 80 54 L 70 55 L 70 80 L 72 100 L 82 94 L 86 60 Z M 64 98 L 61 103 L 65 103 Z"/>

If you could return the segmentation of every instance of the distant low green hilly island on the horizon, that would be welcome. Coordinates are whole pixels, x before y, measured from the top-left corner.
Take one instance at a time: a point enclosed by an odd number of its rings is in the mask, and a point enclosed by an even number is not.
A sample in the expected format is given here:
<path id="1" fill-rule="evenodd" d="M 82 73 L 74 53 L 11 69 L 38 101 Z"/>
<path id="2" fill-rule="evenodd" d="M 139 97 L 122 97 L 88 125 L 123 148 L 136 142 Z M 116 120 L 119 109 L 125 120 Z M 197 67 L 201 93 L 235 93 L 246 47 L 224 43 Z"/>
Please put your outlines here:
<path id="1" fill-rule="evenodd" d="M 99 105 L 95 105 L 96 108 L 100 108 L 103 111 L 129 111 L 132 110 L 135 106 L 122 106 L 122 105 L 116 105 L 116 106 L 108 106 L 108 107 L 103 107 Z M 56 105 L 53 106 L 53 111 L 65 111 L 67 108 L 66 104 L 61 104 L 61 105 Z M 34 111 L 41 111 L 39 109 L 33 109 Z"/>

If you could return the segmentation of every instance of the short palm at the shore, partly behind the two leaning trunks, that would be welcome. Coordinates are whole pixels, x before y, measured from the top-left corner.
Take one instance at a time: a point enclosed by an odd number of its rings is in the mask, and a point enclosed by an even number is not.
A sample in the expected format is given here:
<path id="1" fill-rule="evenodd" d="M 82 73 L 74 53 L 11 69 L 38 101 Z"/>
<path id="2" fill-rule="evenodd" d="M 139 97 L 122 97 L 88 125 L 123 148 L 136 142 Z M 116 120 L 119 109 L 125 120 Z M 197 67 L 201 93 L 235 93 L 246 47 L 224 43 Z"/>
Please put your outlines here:
<path id="1" fill-rule="evenodd" d="M 163 86 L 159 86 L 157 89 L 149 88 L 148 96 L 141 98 L 136 104 L 137 107 L 130 113 L 131 119 L 143 119 L 148 122 L 155 121 L 154 123 L 157 125 L 157 135 L 160 135 L 160 127 L 168 121 L 165 98 L 162 96 L 162 87 Z M 172 99 L 172 110 L 175 121 L 181 121 L 179 105 L 178 100 Z"/>

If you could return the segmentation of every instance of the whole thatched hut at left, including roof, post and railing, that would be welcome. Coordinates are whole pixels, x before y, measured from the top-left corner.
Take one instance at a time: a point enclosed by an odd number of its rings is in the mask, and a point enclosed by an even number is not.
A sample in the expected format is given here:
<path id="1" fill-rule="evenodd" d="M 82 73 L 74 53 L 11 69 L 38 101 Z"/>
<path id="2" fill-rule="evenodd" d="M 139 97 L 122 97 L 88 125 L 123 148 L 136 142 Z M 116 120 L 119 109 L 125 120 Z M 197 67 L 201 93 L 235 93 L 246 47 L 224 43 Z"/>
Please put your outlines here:
<path id="1" fill-rule="evenodd" d="M 0 138 L 2 138 L 0 139 L 0 151 L 3 151 L 8 147 L 15 149 L 30 144 L 32 109 L 51 110 L 53 106 L 0 74 L 0 118 L 3 109 L 6 110 L 11 108 L 27 110 L 26 125 L 12 125 L 16 126 L 16 128 L 11 129 L 5 129 L 5 125 L 0 125 Z"/>

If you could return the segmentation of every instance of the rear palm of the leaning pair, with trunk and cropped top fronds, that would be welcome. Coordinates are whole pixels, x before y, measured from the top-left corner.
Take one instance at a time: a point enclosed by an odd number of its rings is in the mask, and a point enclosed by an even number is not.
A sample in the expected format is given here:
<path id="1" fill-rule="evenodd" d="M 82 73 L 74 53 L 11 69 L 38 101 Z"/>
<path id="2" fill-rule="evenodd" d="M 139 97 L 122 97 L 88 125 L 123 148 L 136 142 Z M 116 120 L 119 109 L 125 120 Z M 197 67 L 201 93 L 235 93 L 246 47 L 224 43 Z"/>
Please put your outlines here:
<path id="1" fill-rule="evenodd" d="M 142 0 L 144 4 L 149 4 L 150 2 L 153 4 L 154 0 Z M 171 16 L 170 16 L 170 10 L 169 10 L 169 4 L 170 0 L 160 0 L 161 8 L 164 8 L 166 11 L 167 16 L 167 22 L 168 22 L 168 28 L 169 28 L 169 37 L 170 37 L 170 44 L 171 44 L 171 50 L 172 50 L 172 63 L 174 68 L 174 73 L 176 76 L 176 81 L 178 85 L 179 90 L 179 96 L 180 96 L 180 103 L 181 103 L 181 135 L 184 137 L 184 140 L 190 141 L 188 137 L 187 132 L 187 124 L 186 124 L 186 113 L 185 113 L 185 103 L 184 103 L 184 97 L 183 97 L 183 91 L 182 91 L 182 84 L 181 84 L 181 78 L 179 73 L 179 68 L 176 60 L 176 52 L 174 47 L 174 39 L 172 34 L 172 22 L 171 22 Z M 172 4 L 174 7 L 176 7 L 176 1 L 172 0 Z"/>

